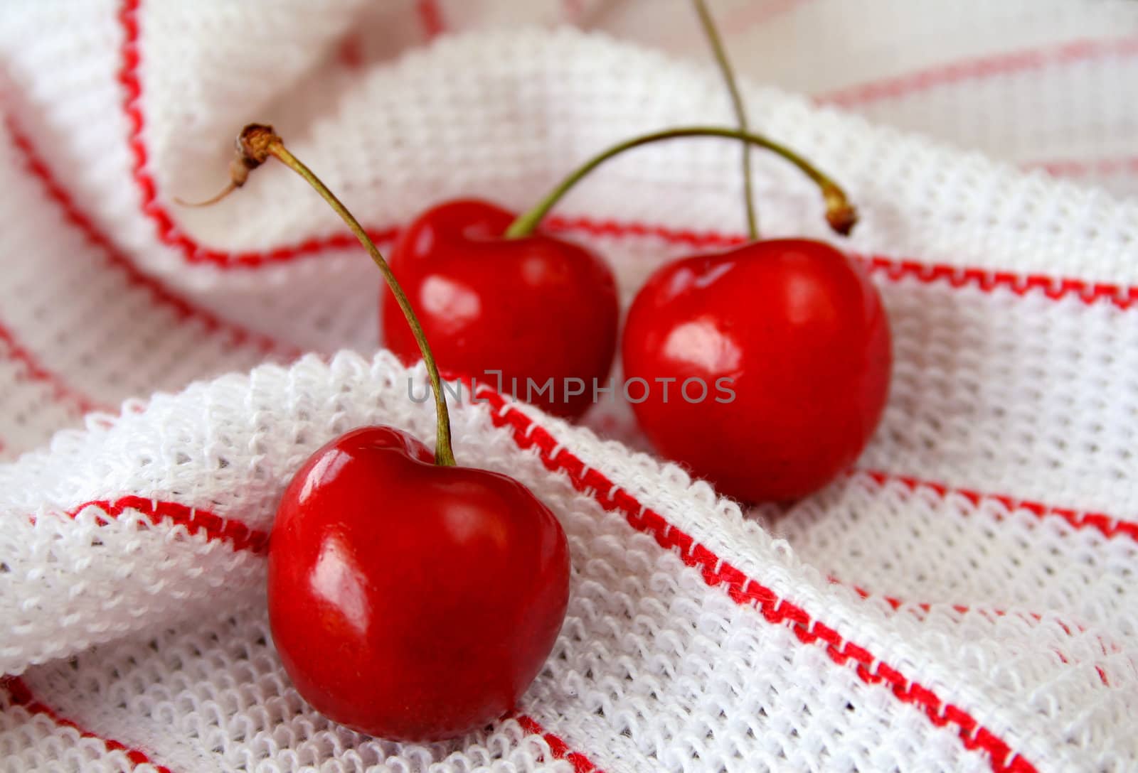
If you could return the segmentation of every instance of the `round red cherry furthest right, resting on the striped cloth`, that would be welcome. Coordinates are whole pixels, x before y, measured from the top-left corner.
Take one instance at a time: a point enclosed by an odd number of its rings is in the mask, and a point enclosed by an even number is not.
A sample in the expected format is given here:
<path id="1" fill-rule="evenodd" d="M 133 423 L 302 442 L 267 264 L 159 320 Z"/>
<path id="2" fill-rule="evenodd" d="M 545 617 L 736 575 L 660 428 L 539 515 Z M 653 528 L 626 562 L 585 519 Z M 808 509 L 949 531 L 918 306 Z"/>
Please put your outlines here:
<path id="1" fill-rule="evenodd" d="M 849 466 L 881 418 L 892 361 L 868 276 L 800 239 L 661 267 L 628 311 L 622 356 L 626 379 L 650 386 L 633 407 L 657 450 L 747 502 L 802 497 Z M 675 379 L 667 402 L 658 379 Z M 688 379 L 701 380 L 694 402 Z M 642 391 L 629 386 L 633 400 Z"/>

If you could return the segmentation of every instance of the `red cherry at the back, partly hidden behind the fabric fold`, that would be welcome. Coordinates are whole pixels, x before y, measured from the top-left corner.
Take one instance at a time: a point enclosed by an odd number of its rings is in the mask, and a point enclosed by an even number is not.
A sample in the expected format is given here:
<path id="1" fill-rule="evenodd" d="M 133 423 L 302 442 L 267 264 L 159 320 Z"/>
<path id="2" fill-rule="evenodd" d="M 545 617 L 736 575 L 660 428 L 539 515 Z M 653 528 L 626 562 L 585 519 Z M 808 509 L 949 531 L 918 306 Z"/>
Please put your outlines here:
<path id="1" fill-rule="evenodd" d="M 617 346 L 618 302 L 612 273 L 596 255 L 544 234 L 503 238 L 514 215 L 486 201 L 450 201 L 403 232 L 390 266 L 422 322 L 443 371 L 472 375 L 567 417 L 591 405 Z M 381 291 L 386 346 L 418 361 L 403 313 Z M 517 379 L 517 382 L 512 380 Z M 527 392 L 527 379 L 534 390 Z M 553 389 L 537 394 L 549 379 Z M 580 379 L 567 390 L 566 379 Z M 517 389 L 512 384 L 517 383 Z M 583 393 L 566 398 L 569 391 Z"/>

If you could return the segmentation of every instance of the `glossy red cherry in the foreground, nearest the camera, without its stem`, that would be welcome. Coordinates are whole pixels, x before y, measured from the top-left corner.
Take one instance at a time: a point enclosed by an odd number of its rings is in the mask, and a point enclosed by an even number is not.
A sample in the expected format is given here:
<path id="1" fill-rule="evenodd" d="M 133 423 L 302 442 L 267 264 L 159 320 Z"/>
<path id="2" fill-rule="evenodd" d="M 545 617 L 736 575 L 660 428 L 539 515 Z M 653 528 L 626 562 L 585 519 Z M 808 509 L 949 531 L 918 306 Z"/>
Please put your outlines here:
<path id="1" fill-rule="evenodd" d="M 393 740 L 453 738 L 511 712 L 569 598 L 556 518 L 526 487 L 437 466 L 387 426 L 292 477 L 269 550 L 273 641 L 321 714 Z"/>

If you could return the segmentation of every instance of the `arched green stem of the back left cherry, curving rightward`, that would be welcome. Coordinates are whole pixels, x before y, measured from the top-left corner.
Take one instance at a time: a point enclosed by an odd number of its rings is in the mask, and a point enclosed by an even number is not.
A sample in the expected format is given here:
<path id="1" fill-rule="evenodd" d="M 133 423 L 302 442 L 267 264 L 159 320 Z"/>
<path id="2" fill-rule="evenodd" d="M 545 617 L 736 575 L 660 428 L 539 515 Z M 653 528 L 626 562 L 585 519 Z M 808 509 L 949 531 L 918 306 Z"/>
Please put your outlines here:
<path id="1" fill-rule="evenodd" d="M 533 209 L 519 215 L 518 218 L 510 224 L 510 227 L 506 228 L 505 238 L 521 239 L 522 236 L 528 236 L 533 233 L 542 218 L 545 217 L 545 215 L 554 207 L 554 205 L 556 205 L 561 197 L 569 191 L 569 189 L 580 182 L 580 180 L 589 172 L 613 156 L 619 156 L 626 150 L 632 150 L 633 148 L 638 148 L 652 142 L 677 140 L 685 136 L 723 136 L 732 140 L 743 140 L 750 144 L 766 148 L 767 150 L 782 156 L 787 161 L 797 166 L 802 174 L 814 181 L 814 183 L 822 190 L 822 197 L 826 202 L 826 222 L 830 223 L 830 227 L 836 233 L 843 235 L 849 234 L 849 232 L 853 230 L 853 225 L 857 223 L 857 211 L 853 209 L 853 205 L 849 202 L 846 191 L 843 191 L 838 183 L 831 180 L 826 174 L 795 153 L 793 150 L 790 150 L 774 140 L 769 140 L 761 134 L 751 132 L 741 132 L 735 128 L 723 128 L 718 126 L 684 126 L 681 128 L 666 128 L 660 132 L 642 134 L 630 140 L 625 140 L 624 142 L 615 144 L 608 150 L 597 153 L 561 181 L 561 183 Z"/>

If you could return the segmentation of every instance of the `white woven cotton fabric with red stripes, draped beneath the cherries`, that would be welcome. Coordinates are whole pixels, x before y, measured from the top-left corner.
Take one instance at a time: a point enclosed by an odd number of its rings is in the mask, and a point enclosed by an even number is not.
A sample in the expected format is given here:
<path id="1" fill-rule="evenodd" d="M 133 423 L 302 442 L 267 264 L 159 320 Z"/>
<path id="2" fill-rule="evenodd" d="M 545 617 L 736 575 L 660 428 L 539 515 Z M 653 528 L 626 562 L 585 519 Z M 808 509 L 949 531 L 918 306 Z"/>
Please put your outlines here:
<path id="1" fill-rule="evenodd" d="M 752 125 L 859 206 L 835 239 L 754 156 L 765 233 L 834 240 L 881 289 L 882 425 L 816 496 L 743 512 L 619 402 L 570 425 L 453 401 L 459 463 L 528 485 L 574 568 L 518 714 L 427 746 L 313 712 L 264 599 L 289 475 L 364 424 L 431 441 L 424 374 L 381 349 L 374 267 L 283 168 L 211 209 L 173 197 L 213 193 L 263 120 L 381 247 L 445 198 L 520 209 L 612 141 L 733 122 L 686 3 L 5 9 L 0 771 L 1138 766 L 1138 6 L 712 8 Z M 739 157 L 638 150 L 546 226 L 627 305 L 742 241 Z"/>

